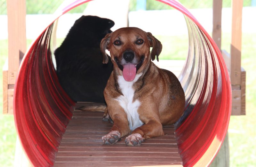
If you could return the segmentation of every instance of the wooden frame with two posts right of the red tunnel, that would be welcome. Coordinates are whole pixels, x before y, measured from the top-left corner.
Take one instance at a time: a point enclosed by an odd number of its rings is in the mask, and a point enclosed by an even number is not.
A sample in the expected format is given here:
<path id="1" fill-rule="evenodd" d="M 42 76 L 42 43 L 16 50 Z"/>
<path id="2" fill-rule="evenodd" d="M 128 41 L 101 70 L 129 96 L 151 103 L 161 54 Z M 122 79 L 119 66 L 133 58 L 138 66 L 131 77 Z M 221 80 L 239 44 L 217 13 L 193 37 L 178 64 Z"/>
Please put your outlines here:
<path id="1" fill-rule="evenodd" d="M 230 54 L 222 50 L 228 68 L 232 87 L 231 115 L 245 115 L 246 71 L 241 67 L 243 0 L 232 0 L 232 30 Z M 221 50 L 221 10 L 222 0 L 213 0 L 212 38 Z"/>

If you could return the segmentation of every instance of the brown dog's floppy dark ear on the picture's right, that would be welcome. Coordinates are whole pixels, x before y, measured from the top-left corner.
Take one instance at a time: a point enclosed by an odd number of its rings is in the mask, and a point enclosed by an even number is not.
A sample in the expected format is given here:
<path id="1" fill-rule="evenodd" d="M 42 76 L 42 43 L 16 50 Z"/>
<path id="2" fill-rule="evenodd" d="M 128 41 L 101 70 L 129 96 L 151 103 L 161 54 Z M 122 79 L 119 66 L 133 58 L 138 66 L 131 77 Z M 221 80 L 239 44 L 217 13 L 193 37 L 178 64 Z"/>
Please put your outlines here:
<path id="1" fill-rule="evenodd" d="M 147 32 L 147 36 L 148 36 L 148 41 L 149 41 L 150 47 L 153 47 L 151 54 L 150 54 L 151 60 L 156 59 L 157 61 L 159 61 L 158 56 L 162 52 L 163 46 L 162 46 L 161 42 L 158 41 L 158 39 L 156 39 L 150 32 Z"/>

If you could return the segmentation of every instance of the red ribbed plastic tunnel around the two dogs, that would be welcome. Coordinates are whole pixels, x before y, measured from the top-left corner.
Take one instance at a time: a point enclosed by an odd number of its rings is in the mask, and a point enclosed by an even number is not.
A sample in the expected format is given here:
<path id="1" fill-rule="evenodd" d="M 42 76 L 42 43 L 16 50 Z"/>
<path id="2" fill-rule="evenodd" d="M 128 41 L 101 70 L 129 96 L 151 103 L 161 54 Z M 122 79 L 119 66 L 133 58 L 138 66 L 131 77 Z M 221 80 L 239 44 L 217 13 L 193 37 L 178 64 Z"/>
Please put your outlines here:
<path id="1" fill-rule="evenodd" d="M 58 83 L 51 60 L 52 27 L 62 14 L 89 0 L 60 10 L 28 49 L 14 92 L 14 118 L 24 150 L 34 166 L 52 166 L 74 102 Z M 186 96 L 185 115 L 175 124 L 184 166 L 209 165 L 225 138 L 231 113 L 231 86 L 220 50 L 196 18 L 175 0 L 159 0 L 184 14 L 189 52 L 180 74 Z M 164 16 L 163 16 L 164 17 Z"/>

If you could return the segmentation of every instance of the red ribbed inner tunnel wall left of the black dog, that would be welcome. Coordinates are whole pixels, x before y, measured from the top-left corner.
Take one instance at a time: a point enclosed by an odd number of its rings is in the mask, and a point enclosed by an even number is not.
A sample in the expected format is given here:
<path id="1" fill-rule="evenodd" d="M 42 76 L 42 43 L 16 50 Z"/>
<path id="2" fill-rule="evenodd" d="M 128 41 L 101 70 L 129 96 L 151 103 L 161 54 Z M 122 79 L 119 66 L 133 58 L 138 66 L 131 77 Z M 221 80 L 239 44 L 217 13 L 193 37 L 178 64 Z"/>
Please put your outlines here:
<path id="1" fill-rule="evenodd" d="M 16 129 L 35 166 L 53 165 L 75 104 L 57 82 L 49 47 L 51 27 L 28 50 L 15 84 Z"/>

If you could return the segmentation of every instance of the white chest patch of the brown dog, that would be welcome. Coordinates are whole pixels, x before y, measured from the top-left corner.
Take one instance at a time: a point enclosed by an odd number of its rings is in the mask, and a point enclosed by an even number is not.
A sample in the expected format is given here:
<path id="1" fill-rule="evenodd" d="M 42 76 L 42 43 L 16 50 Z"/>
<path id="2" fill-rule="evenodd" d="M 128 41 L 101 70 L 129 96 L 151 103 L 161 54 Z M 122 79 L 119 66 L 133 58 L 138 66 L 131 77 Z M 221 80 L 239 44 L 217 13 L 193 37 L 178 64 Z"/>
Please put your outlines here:
<path id="1" fill-rule="evenodd" d="M 124 80 L 123 76 L 118 76 L 117 81 L 119 87 L 124 96 L 119 96 L 116 100 L 119 102 L 120 106 L 124 108 L 124 111 L 127 115 L 130 130 L 133 131 L 134 129 L 140 127 L 144 123 L 140 120 L 138 114 L 138 108 L 140 107 L 140 101 L 135 100 L 133 102 L 133 95 L 134 90 L 132 88 L 133 83 L 135 83 L 141 74 L 136 74 L 133 81 L 128 82 Z"/>

